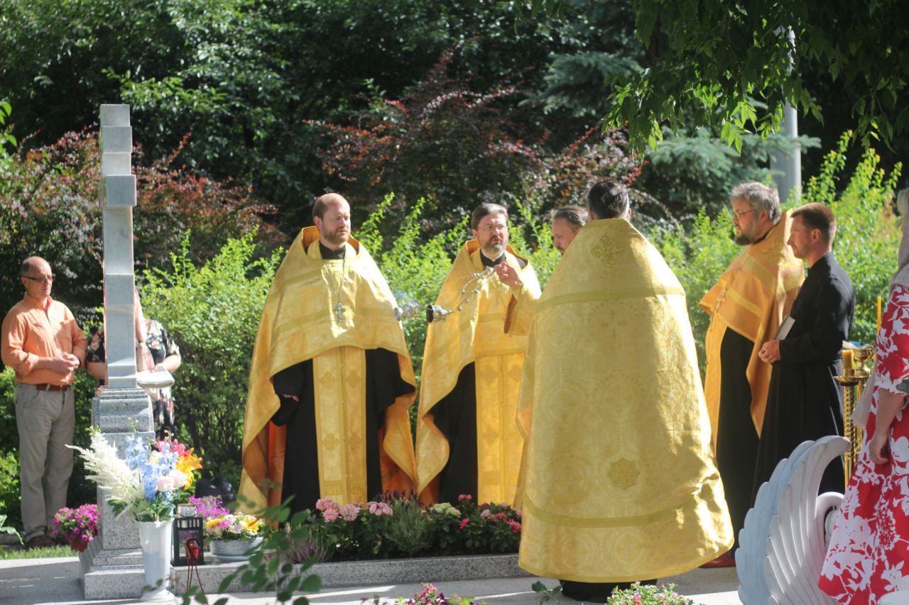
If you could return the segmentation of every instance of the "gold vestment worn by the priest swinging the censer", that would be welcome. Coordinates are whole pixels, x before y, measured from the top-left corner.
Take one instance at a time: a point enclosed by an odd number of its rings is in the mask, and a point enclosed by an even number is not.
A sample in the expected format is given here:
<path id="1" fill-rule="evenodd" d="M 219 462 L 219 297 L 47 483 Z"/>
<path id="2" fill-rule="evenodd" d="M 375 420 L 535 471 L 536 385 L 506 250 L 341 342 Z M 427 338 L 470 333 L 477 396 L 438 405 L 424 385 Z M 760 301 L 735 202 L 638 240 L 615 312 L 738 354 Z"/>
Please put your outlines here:
<path id="1" fill-rule="evenodd" d="M 492 275 L 462 311 L 445 322 L 430 323 L 426 331 L 416 428 L 417 491 L 424 501 L 435 500 L 431 483 L 448 461 L 448 442 L 435 427 L 433 406 L 452 391 L 469 363 L 476 371 L 477 497 L 481 502 L 514 501 L 524 442 L 514 425 L 527 342 L 519 335 L 520 323 L 529 321 L 528 310 L 540 296 L 540 284 L 530 263 L 521 269 L 510 246 L 505 254 L 524 283 L 521 288 L 509 288 Z M 483 269 L 479 243 L 465 243 L 436 303 L 450 308 L 461 300 L 461 289 L 471 275 Z M 514 312 L 515 298 L 521 302 L 519 312 Z"/>

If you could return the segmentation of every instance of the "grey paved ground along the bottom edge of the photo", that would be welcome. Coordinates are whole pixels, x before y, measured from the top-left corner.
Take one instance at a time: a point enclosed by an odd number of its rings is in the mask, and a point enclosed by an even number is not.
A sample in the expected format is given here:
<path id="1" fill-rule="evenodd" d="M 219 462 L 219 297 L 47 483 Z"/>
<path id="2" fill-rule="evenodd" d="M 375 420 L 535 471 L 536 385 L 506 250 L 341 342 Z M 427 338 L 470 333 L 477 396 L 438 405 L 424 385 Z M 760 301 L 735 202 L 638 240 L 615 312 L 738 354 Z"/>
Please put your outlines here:
<path id="1" fill-rule="evenodd" d="M 445 594 L 473 596 L 485 600 L 489 605 L 536 605 L 540 602 L 530 586 L 531 578 L 502 580 L 473 580 L 440 582 L 439 588 Z M 738 579 L 734 569 L 693 570 L 673 578 L 660 580 L 674 582 L 678 592 L 701 605 L 739 605 L 735 594 Z M 552 587 L 555 580 L 544 580 Z M 214 588 L 214 587 L 213 587 Z M 420 590 L 418 584 L 396 584 L 364 586 L 347 589 L 326 589 L 309 595 L 315 605 L 362 605 L 375 603 L 383 605 L 394 602 L 396 597 L 412 596 Z M 213 602 L 215 595 L 208 595 Z M 0 560 L 0 603 L 4 605 L 83 605 L 85 603 L 135 603 L 137 600 L 83 600 L 79 583 L 79 562 L 75 557 L 61 559 Z M 265 594 L 236 594 L 229 598 L 237 605 L 265 605 L 274 603 L 275 596 Z M 577 601 L 563 599 L 571 605 Z"/>

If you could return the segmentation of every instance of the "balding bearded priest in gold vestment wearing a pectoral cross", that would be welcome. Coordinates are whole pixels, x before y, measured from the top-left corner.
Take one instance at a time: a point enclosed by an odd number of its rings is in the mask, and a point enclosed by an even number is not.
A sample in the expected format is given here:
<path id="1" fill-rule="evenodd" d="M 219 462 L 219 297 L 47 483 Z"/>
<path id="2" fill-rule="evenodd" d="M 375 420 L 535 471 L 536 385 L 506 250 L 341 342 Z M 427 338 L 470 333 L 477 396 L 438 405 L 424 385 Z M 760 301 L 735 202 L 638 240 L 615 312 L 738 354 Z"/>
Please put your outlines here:
<path id="1" fill-rule="evenodd" d="M 255 338 L 240 493 L 258 507 L 290 496 L 292 511 L 320 498 L 362 504 L 415 487 L 415 375 L 395 298 L 350 237 L 345 199 L 323 195 L 313 215 L 275 273 Z"/>

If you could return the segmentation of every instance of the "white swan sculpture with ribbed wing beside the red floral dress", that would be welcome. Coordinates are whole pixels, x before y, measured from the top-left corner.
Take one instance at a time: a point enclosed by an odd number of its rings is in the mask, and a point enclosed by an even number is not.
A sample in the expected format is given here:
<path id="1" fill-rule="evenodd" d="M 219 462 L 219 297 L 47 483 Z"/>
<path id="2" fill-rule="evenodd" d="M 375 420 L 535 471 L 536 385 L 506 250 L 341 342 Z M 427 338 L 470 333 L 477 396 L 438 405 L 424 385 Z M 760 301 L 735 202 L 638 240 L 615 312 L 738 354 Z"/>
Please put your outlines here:
<path id="1" fill-rule="evenodd" d="M 735 551 L 744 605 L 836 605 L 817 587 L 827 550 L 827 514 L 843 495 L 817 495 L 824 469 L 849 448 L 831 435 L 804 441 L 774 469 L 744 518 Z"/>

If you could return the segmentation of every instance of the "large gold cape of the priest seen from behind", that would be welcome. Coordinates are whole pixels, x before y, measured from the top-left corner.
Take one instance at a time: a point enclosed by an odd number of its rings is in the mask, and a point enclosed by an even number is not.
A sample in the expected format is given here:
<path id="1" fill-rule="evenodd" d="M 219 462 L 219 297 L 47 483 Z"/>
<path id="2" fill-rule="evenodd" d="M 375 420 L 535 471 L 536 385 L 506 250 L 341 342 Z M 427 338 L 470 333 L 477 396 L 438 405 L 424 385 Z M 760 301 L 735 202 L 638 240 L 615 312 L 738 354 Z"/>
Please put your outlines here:
<path id="1" fill-rule="evenodd" d="M 732 546 L 684 290 L 624 219 L 584 225 L 546 284 L 518 424 L 524 570 L 645 580 Z"/>

